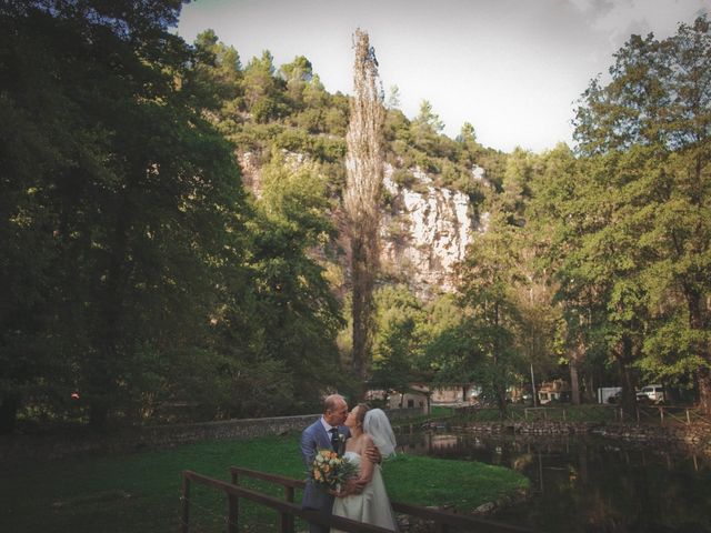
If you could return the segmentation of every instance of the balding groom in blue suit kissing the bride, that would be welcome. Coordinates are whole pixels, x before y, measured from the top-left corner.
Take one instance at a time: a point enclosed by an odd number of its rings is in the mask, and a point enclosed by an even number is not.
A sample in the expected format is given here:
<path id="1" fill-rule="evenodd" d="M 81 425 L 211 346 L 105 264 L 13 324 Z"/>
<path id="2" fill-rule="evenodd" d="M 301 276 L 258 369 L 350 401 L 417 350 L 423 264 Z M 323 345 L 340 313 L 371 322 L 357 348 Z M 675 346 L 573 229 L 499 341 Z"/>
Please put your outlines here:
<path id="1" fill-rule="evenodd" d="M 343 454 L 346 449 L 346 439 L 351 436 L 351 432 L 343 425 L 348 418 L 348 403 L 340 394 L 331 394 L 323 401 L 323 414 L 319 420 L 312 423 L 301 433 L 301 457 L 307 470 L 311 469 L 311 463 L 319 449 L 331 449 L 339 454 Z M 368 450 L 367 455 L 377 463 L 382 460 L 377 450 Z M 349 482 L 351 493 L 360 493 L 365 482 Z M 326 491 L 320 490 L 313 484 L 312 480 L 307 481 L 307 487 L 303 491 L 302 509 L 319 511 L 324 516 L 331 515 L 333 506 L 333 496 Z M 309 523 L 310 533 L 328 533 L 329 527 Z"/>

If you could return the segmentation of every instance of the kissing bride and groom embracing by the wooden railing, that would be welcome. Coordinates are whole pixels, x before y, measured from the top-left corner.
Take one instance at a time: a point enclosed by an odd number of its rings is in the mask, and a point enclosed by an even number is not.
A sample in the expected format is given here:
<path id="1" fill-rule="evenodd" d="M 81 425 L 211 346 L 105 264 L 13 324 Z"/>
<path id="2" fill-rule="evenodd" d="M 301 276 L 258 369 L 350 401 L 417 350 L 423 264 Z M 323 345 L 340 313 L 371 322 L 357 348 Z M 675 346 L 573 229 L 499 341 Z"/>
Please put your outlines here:
<path id="1" fill-rule="evenodd" d="M 301 457 L 311 467 L 319 450 L 333 450 L 358 467 L 340 492 L 321 490 L 307 481 L 302 509 L 314 510 L 324 516 L 331 514 L 358 522 L 397 530 L 390 500 L 380 472 L 383 457 L 394 454 L 395 436 L 390 421 L 381 409 L 369 409 L 364 403 L 350 412 L 340 394 L 323 401 L 323 414 L 301 434 Z M 319 524 L 309 524 L 310 533 L 334 533 Z"/>

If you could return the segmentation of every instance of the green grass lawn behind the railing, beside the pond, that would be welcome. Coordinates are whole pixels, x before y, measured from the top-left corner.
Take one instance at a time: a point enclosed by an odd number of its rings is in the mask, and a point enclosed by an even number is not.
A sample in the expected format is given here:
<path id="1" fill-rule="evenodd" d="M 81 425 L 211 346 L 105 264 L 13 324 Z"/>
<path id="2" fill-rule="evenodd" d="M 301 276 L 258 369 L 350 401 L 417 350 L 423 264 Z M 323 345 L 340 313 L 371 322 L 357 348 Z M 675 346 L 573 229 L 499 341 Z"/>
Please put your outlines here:
<path id="1" fill-rule="evenodd" d="M 27 463 L 0 472 L 0 531 L 178 531 L 181 472 L 229 481 L 231 465 L 304 477 L 297 434 Z M 413 455 L 387 461 L 383 475 L 392 500 L 462 511 L 528 486 L 525 477 L 508 469 Z M 281 496 L 274 485 L 248 486 Z M 226 530 L 222 493 L 193 484 L 190 500 L 191 531 Z M 241 531 L 273 531 L 277 523 L 271 510 L 249 502 L 240 503 L 240 521 L 247 525 Z"/>

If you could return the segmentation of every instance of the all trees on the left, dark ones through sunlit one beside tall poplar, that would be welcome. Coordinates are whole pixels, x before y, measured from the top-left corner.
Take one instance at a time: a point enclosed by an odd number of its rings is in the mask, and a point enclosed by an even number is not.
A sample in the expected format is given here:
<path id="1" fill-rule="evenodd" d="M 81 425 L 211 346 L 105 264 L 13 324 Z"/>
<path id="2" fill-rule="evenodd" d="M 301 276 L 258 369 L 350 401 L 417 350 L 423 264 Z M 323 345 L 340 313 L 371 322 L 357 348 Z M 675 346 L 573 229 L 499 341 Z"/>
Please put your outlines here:
<path id="1" fill-rule="evenodd" d="M 276 160 L 248 198 L 212 118 L 278 93 L 269 58 L 242 73 L 209 33 L 189 47 L 179 7 L 0 12 L 3 431 L 311 410 L 332 378 L 339 305 L 307 254 L 328 184 Z"/>

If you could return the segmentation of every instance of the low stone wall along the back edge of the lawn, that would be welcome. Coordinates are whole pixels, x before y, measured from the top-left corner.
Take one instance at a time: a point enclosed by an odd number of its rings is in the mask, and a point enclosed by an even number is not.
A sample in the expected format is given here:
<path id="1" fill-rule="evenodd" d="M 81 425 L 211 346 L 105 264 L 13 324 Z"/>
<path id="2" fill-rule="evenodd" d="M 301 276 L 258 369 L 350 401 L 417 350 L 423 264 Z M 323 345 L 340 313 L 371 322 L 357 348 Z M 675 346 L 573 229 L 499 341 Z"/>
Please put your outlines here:
<path id="1" fill-rule="evenodd" d="M 420 409 L 388 411 L 390 420 L 419 416 Z M 51 435 L 4 435 L 0 438 L 0 465 L 17 461 L 49 461 L 81 453 L 130 452 L 170 447 L 200 441 L 251 439 L 301 431 L 320 414 L 241 419 L 199 424 L 128 428 L 111 433 L 73 431 Z"/>

